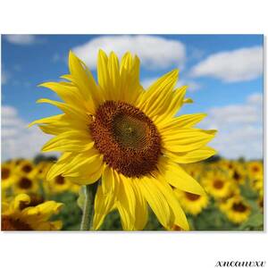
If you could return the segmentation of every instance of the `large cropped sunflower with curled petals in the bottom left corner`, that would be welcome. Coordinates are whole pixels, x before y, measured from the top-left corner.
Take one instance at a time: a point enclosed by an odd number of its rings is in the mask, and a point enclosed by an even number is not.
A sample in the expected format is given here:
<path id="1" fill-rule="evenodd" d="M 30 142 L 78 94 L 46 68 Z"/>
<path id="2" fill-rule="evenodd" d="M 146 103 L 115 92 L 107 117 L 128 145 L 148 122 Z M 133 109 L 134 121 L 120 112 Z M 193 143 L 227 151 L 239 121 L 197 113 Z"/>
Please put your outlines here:
<path id="1" fill-rule="evenodd" d="M 50 222 L 52 215 L 57 214 L 63 204 L 46 201 L 43 204 L 29 206 L 30 197 L 21 194 L 10 203 L 3 202 L 2 230 L 60 230 L 61 221 Z"/>

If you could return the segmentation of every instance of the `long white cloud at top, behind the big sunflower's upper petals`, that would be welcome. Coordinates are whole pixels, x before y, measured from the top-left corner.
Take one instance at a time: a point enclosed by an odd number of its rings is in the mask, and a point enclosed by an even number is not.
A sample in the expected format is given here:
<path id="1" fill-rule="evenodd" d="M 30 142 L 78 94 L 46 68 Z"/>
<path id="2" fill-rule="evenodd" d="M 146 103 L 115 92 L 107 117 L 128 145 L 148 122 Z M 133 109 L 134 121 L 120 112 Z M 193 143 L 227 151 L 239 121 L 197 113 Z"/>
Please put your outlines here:
<path id="1" fill-rule="evenodd" d="M 185 62 L 185 46 L 180 41 L 154 36 L 113 36 L 94 38 L 72 50 L 89 68 L 96 68 L 99 49 L 106 53 L 114 51 L 120 57 L 130 51 L 138 54 L 143 66 L 149 69 L 164 69 L 170 66 L 182 67 Z"/>

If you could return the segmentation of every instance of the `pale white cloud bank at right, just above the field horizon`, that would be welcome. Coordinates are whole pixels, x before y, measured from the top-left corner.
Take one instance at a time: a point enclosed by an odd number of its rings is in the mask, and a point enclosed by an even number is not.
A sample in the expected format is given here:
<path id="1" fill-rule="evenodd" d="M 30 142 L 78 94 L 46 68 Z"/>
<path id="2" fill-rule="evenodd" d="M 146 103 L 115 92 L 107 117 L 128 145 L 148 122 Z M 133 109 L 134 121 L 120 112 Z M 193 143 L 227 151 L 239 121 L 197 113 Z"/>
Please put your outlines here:
<path id="1" fill-rule="evenodd" d="M 228 158 L 244 156 L 247 159 L 263 157 L 263 96 L 255 93 L 242 105 L 226 105 L 210 109 L 205 129 L 218 130 L 211 146 Z"/>

